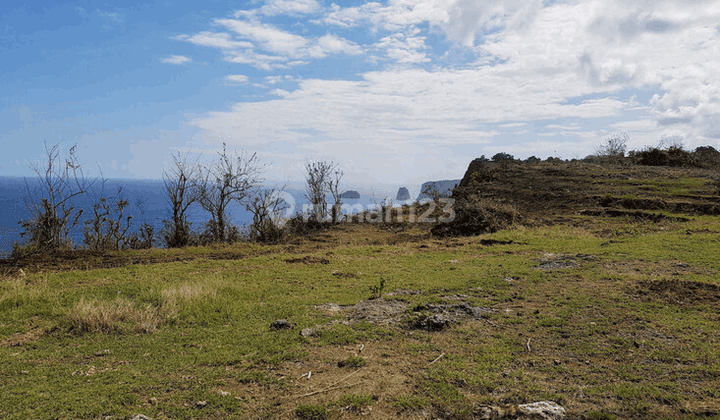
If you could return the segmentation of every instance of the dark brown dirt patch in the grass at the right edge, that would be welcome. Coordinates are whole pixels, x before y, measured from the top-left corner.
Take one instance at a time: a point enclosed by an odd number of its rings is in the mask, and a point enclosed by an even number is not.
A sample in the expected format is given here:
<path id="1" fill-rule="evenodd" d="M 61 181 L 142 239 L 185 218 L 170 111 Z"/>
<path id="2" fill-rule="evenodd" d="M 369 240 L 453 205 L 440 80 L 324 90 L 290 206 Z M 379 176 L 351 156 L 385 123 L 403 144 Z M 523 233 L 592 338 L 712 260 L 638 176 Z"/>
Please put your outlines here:
<path id="1" fill-rule="evenodd" d="M 631 293 L 649 301 L 663 301 L 675 305 L 717 305 L 720 286 L 683 280 L 643 280 Z"/>

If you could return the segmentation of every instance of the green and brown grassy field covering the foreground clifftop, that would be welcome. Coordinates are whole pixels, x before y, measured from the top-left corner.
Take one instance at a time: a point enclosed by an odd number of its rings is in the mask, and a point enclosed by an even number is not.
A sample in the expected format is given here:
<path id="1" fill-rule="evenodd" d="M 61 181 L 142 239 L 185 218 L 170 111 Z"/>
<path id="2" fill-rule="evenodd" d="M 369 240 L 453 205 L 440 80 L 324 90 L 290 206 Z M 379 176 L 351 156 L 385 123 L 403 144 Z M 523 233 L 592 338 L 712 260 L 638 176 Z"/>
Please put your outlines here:
<path id="1" fill-rule="evenodd" d="M 720 223 L 655 213 L 27 264 L 0 279 L 0 417 L 470 419 L 553 401 L 568 418 L 720 419 Z M 423 328 L 438 308 L 448 325 Z"/>

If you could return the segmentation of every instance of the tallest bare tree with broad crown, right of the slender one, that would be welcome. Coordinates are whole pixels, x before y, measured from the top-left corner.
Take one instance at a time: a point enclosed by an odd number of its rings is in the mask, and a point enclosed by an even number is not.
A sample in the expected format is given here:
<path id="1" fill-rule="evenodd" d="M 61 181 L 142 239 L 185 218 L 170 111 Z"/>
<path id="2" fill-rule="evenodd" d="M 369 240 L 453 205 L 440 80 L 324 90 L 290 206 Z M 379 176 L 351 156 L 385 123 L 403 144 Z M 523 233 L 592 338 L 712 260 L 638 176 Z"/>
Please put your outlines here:
<path id="1" fill-rule="evenodd" d="M 197 184 L 198 202 L 212 217 L 210 228 L 215 242 L 228 238 L 227 207 L 233 201 L 242 204 L 250 189 L 261 182 L 262 165 L 257 154 L 244 151 L 228 155 L 227 145 L 218 154 L 219 159 L 201 169 Z"/>

